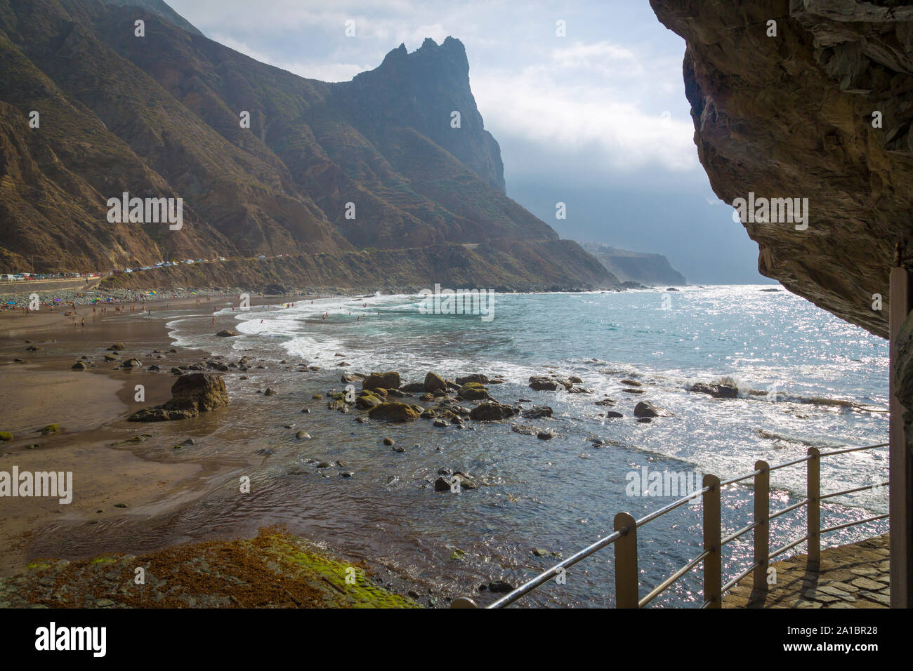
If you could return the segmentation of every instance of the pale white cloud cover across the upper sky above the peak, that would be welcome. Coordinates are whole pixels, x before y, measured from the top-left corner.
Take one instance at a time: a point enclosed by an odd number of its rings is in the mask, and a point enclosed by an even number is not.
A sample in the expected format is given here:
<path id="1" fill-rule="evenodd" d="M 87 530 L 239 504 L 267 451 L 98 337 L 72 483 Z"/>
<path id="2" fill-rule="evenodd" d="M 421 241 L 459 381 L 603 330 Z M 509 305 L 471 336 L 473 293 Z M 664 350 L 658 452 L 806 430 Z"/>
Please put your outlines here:
<path id="1" fill-rule="evenodd" d="M 627 2 L 572 3 L 576 15 L 567 38 L 554 37 L 550 7 L 517 16 L 498 2 L 338 0 L 328 7 L 259 0 L 250 9 L 247 0 L 174 0 L 173 5 L 192 22 L 205 20 L 202 27 L 226 46 L 325 81 L 345 81 L 376 68 L 401 42 L 415 50 L 425 37 L 440 43 L 452 35 L 467 46 L 473 93 L 496 138 L 534 143 L 530 151 L 537 155 L 577 155 L 586 163 L 582 171 L 648 166 L 697 171 L 678 38 L 663 39 L 649 9 L 636 16 L 648 22 L 646 32 L 637 32 L 637 23 L 595 27 L 605 26 L 608 16 L 633 11 Z M 354 39 L 343 35 L 348 19 L 355 21 Z M 671 113 L 664 115 L 666 110 Z M 509 163 L 510 157 L 504 160 Z"/>

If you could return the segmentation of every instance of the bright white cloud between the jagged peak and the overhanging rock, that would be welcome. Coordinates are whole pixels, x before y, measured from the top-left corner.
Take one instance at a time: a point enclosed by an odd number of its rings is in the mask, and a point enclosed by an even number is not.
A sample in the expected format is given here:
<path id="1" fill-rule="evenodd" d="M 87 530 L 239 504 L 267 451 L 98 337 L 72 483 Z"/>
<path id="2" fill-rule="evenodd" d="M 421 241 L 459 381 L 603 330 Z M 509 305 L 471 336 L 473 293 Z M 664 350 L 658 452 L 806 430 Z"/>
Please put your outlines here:
<path id="1" fill-rule="evenodd" d="M 643 62 L 608 42 L 572 44 L 519 73 L 483 71 L 472 88 L 496 137 L 508 133 L 564 154 L 602 154 L 613 170 L 698 170 L 690 117 L 641 104 L 655 90 Z"/>

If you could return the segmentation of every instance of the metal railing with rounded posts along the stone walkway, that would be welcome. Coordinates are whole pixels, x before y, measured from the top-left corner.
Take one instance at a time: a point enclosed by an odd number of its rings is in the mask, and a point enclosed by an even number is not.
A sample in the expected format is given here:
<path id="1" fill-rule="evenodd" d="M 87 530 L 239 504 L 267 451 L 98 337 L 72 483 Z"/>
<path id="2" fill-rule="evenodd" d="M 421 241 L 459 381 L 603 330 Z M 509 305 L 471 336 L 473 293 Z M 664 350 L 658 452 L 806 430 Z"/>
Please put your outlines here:
<path id="1" fill-rule="evenodd" d="M 766 461 L 758 461 L 754 465 L 754 471 L 740 477 L 733 477 L 723 482 L 719 477 L 713 475 L 704 476 L 703 488 L 693 492 L 687 497 L 679 498 L 677 501 L 670 503 L 664 508 L 659 508 L 641 519 L 634 519 L 626 512 L 620 512 L 614 518 L 614 532 L 603 539 L 597 540 L 592 545 L 580 550 L 568 559 L 555 564 L 550 569 L 542 571 L 539 575 L 528 582 L 524 582 L 518 588 L 502 596 L 498 601 L 488 604 L 486 608 L 504 608 L 526 596 L 530 592 L 538 589 L 541 585 L 549 582 L 564 571 L 572 567 L 579 561 L 586 559 L 590 555 L 609 545 L 614 545 L 614 563 L 615 563 L 615 607 L 616 608 L 643 608 L 648 603 L 656 599 L 657 596 L 666 592 L 673 584 L 678 582 L 690 571 L 703 564 L 704 584 L 703 584 L 703 603 L 701 608 L 719 608 L 722 606 L 722 595 L 728 592 L 742 579 L 753 573 L 753 581 L 756 587 L 766 588 L 767 586 L 767 569 L 771 559 L 781 555 L 783 552 L 792 550 L 800 543 L 807 543 L 807 554 L 809 564 L 819 564 L 821 561 L 821 535 L 846 529 L 857 524 L 866 524 L 877 519 L 886 519 L 884 515 L 876 515 L 866 519 L 857 519 L 852 522 L 838 524 L 826 529 L 821 528 L 821 502 L 827 498 L 855 494 L 856 492 L 866 491 L 867 489 L 887 487 L 888 483 L 874 483 L 865 487 L 856 487 L 844 489 L 843 491 L 833 492 L 831 494 L 821 494 L 821 459 L 824 456 L 843 455 L 849 452 L 859 452 L 861 450 L 876 449 L 877 447 L 887 447 L 887 443 L 879 445 L 870 445 L 862 447 L 847 447 L 844 449 L 834 450 L 832 452 L 820 452 L 816 447 L 809 447 L 806 456 L 800 459 L 793 459 L 783 464 L 770 466 Z M 801 501 L 777 510 L 771 513 L 771 471 L 780 468 L 791 467 L 797 464 L 806 464 L 806 494 Z M 735 485 L 743 480 L 754 478 L 754 510 L 753 520 L 750 524 L 742 529 L 735 531 L 726 538 L 722 538 L 722 520 L 720 514 L 720 492 L 722 488 Z M 653 521 L 666 515 L 666 513 L 675 510 L 694 498 L 701 497 L 703 508 L 703 551 L 693 560 L 688 561 L 685 566 L 678 569 L 666 580 L 660 582 L 653 590 L 647 593 L 643 598 L 640 597 L 640 578 L 637 571 L 637 529 L 643 527 L 648 522 Z M 771 552 L 770 534 L 771 519 L 776 519 L 781 515 L 792 512 L 799 508 L 806 508 L 806 532 L 802 538 L 792 540 L 781 548 Z M 739 575 L 735 576 L 729 582 L 722 582 L 722 549 L 733 540 L 740 539 L 743 535 L 753 531 L 754 549 L 753 561 L 750 566 Z M 459 597 L 451 604 L 451 608 L 477 608 L 477 603 L 468 597 Z"/>

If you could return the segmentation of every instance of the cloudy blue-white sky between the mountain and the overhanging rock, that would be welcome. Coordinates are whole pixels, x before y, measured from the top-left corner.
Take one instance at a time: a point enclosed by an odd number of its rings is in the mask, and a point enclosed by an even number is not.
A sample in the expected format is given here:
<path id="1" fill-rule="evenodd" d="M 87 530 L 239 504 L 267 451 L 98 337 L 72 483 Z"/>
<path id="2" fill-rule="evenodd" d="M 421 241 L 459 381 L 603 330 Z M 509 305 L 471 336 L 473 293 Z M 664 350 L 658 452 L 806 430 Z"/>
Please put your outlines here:
<path id="1" fill-rule="evenodd" d="M 400 43 L 456 37 L 508 195 L 561 237 L 663 254 L 691 284 L 770 281 L 698 162 L 685 42 L 647 0 L 168 4 L 206 37 L 324 81 L 376 68 Z"/>

